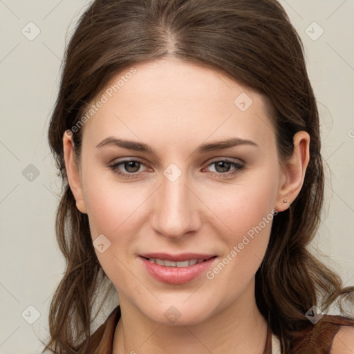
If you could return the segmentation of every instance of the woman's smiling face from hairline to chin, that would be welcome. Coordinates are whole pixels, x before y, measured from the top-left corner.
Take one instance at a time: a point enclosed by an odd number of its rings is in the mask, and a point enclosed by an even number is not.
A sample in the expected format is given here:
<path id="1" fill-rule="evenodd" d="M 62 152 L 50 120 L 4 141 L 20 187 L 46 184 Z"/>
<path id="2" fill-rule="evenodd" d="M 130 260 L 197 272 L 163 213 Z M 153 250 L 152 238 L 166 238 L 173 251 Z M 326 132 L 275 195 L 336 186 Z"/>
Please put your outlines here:
<path id="1" fill-rule="evenodd" d="M 162 59 L 120 73 L 92 104 L 71 187 L 120 304 L 195 324 L 254 297 L 273 213 L 288 207 L 264 97 Z"/>

